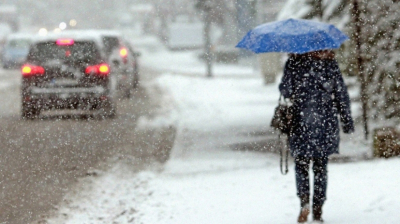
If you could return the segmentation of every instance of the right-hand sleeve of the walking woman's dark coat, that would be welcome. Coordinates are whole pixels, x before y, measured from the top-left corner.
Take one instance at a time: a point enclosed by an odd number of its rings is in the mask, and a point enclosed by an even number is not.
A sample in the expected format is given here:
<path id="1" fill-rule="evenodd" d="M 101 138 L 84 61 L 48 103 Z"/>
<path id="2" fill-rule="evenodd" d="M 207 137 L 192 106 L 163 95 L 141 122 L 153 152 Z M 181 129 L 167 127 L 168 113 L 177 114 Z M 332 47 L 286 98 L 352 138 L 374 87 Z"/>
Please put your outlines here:
<path id="1" fill-rule="evenodd" d="M 352 133 L 354 132 L 354 122 L 351 117 L 350 97 L 336 61 L 332 63 L 332 71 L 336 80 L 334 89 L 335 103 L 340 115 L 343 132 Z"/>

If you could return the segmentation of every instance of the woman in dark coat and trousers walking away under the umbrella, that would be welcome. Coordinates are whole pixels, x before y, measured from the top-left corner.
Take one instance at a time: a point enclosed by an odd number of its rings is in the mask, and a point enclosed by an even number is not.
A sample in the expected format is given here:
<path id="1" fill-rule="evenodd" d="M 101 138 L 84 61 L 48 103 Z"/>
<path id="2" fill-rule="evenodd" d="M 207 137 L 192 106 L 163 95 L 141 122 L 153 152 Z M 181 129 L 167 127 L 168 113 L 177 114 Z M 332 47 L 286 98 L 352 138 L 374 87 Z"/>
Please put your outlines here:
<path id="1" fill-rule="evenodd" d="M 354 132 L 347 87 L 329 50 L 291 54 L 286 62 L 279 90 L 293 103 L 290 152 L 295 159 L 299 223 L 310 213 L 309 168 L 312 161 L 314 192 L 313 220 L 323 222 L 326 200 L 328 156 L 339 153 L 339 121 L 344 133 Z"/>

